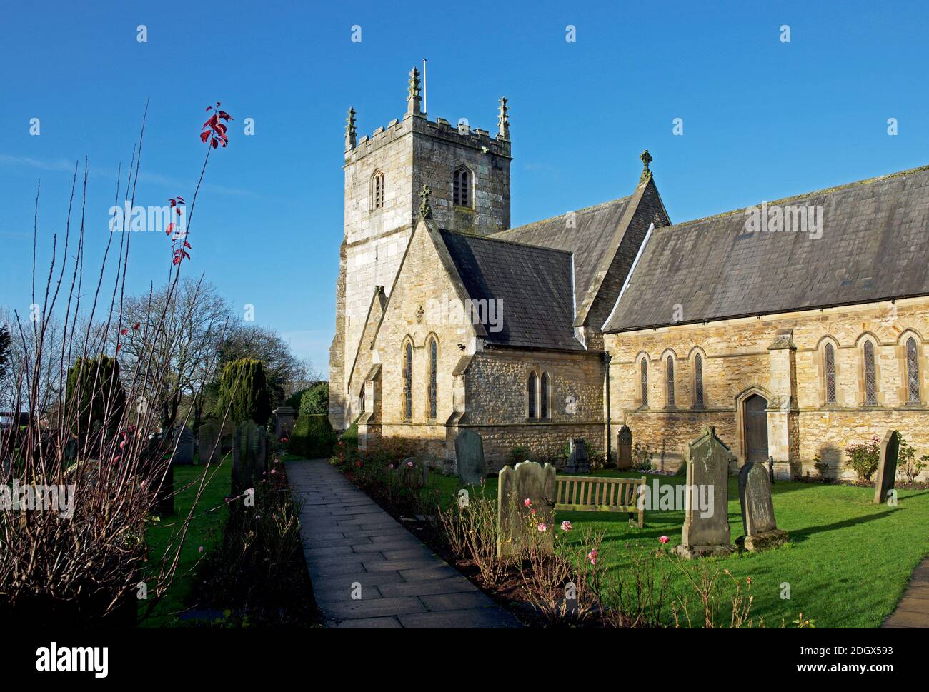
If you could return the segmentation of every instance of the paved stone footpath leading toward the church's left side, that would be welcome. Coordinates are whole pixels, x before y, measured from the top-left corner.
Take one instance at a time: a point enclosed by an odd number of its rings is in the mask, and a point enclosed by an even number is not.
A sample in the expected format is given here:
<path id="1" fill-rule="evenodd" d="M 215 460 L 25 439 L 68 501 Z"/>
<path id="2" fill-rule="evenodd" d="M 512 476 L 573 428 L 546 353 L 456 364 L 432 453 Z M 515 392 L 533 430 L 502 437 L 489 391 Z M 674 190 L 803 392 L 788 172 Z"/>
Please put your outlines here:
<path id="1" fill-rule="evenodd" d="M 328 462 L 288 462 L 287 477 L 301 506 L 313 594 L 328 626 L 519 626 Z"/>

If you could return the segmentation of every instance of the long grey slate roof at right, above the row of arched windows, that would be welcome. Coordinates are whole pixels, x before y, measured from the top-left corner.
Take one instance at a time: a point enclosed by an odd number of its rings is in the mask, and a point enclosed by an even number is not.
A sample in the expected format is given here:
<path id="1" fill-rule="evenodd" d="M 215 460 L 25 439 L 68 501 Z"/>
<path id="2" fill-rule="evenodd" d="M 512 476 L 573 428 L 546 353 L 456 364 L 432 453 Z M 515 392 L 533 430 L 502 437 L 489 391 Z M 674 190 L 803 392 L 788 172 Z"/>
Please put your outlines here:
<path id="1" fill-rule="evenodd" d="M 768 202 L 822 237 L 746 233 L 744 209 L 654 230 L 606 332 L 929 294 L 929 166 Z"/>

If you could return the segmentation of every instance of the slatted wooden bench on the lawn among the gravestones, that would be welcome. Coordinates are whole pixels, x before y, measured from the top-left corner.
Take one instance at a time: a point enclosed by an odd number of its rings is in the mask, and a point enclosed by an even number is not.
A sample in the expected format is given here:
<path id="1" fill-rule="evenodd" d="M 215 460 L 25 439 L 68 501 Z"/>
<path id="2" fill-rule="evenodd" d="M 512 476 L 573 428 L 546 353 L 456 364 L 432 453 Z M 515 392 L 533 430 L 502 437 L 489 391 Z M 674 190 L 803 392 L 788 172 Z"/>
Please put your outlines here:
<path id="1" fill-rule="evenodd" d="M 641 529 L 645 509 L 639 509 L 639 489 L 646 488 L 646 477 L 606 478 L 556 476 L 556 512 L 628 512 L 630 526 Z M 635 515 L 638 515 L 636 521 Z"/>

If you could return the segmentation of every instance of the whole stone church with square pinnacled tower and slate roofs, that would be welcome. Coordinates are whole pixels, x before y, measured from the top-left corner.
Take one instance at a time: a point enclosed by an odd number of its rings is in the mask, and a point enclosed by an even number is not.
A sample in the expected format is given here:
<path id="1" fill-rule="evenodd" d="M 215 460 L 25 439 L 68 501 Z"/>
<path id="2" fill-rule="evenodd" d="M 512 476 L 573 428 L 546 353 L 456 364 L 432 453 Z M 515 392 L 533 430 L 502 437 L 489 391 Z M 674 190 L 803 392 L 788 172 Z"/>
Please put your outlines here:
<path id="1" fill-rule="evenodd" d="M 402 119 L 348 111 L 337 430 L 451 464 L 469 428 L 491 467 L 623 425 L 672 470 L 707 424 L 793 475 L 891 428 L 929 454 L 929 166 L 673 224 L 646 151 L 628 196 L 510 228 L 511 161 L 505 98 L 495 137 L 430 121 L 415 69 Z"/>

